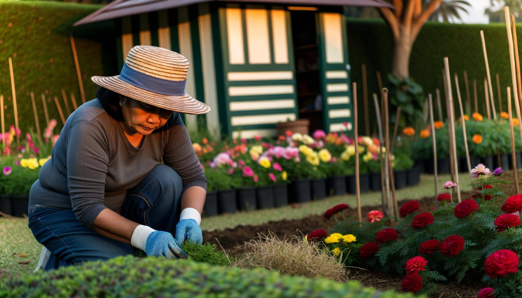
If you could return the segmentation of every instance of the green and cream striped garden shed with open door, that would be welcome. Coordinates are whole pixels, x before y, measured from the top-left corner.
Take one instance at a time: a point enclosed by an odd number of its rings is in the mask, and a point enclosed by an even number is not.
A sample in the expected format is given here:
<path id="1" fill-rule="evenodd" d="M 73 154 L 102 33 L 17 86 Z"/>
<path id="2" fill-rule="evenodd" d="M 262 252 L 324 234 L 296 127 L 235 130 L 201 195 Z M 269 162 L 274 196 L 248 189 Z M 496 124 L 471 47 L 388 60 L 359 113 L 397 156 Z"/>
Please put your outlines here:
<path id="1" fill-rule="evenodd" d="M 278 122 L 352 129 L 343 6 L 382 0 L 116 0 L 75 26 L 115 21 L 118 67 L 134 45 L 179 52 L 191 63 L 186 91 L 211 106 L 223 135 L 275 136 Z M 118 69 L 118 70 L 119 70 Z M 198 117 L 184 115 L 187 127 Z"/>

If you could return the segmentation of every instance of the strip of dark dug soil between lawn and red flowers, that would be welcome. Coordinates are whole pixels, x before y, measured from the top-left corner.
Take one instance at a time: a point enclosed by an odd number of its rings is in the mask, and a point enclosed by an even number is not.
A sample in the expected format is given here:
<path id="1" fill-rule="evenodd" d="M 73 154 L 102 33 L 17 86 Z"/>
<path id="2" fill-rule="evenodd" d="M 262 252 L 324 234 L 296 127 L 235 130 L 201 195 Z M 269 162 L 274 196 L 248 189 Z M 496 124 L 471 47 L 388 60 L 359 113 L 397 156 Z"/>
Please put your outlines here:
<path id="1" fill-rule="evenodd" d="M 399 206 L 409 199 L 399 201 Z M 423 210 L 432 210 L 437 206 L 433 197 L 425 197 L 419 200 Z M 381 210 L 382 206 L 362 207 L 363 217 L 372 210 Z M 357 217 L 357 208 L 345 210 L 348 218 Z M 365 220 L 365 218 L 363 218 Z M 329 231 L 337 224 L 335 219 L 325 220 L 321 215 L 310 215 L 302 219 L 270 221 L 260 225 L 238 225 L 233 229 L 219 231 L 203 231 L 203 243 L 215 243 L 217 247 L 223 249 L 231 256 L 241 254 L 246 251 L 245 242 L 255 239 L 258 234 L 268 235 L 274 233 L 279 239 L 292 239 L 294 236 L 303 237 L 304 235 L 319 229 Z M 217 239 L 217 240 L 216 240 Z M 218 243 L 219 242 L 219 243 Z M 220 246 L 221 245 L 221 246 Z"/>

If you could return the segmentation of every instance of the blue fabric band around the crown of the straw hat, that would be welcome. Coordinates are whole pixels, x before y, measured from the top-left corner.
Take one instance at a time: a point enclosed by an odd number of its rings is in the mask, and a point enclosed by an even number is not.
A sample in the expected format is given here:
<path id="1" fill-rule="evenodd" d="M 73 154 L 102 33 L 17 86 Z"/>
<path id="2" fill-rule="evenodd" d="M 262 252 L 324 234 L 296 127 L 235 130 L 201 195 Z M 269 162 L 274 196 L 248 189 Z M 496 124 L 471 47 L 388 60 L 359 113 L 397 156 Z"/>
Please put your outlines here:
<path id="1" fill-rule="evenodd" d="M 186 78 L 182 81 L 171 81 L 149 76 L 132 69 L 126 63 L 123 64 L 118 78 L 141 89 L 174 96 L 185 94 L 185 84 L 187 82 Z"/>

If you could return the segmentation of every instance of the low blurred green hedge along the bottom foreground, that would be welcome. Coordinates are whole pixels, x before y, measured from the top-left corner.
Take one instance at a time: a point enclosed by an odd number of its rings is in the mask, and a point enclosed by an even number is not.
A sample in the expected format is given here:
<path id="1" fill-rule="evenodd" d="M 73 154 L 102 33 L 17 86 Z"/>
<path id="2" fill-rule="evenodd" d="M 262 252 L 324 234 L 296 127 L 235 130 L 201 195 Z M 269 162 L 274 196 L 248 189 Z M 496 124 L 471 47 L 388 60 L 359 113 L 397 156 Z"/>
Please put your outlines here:
<path id="1" fill-rule="evenodd" d="M 358 282 L 281 276 L 264 269 L 189 260 L 117 257 L 0 282 L 0 297 L 353 297 L 400 298 Z"/>

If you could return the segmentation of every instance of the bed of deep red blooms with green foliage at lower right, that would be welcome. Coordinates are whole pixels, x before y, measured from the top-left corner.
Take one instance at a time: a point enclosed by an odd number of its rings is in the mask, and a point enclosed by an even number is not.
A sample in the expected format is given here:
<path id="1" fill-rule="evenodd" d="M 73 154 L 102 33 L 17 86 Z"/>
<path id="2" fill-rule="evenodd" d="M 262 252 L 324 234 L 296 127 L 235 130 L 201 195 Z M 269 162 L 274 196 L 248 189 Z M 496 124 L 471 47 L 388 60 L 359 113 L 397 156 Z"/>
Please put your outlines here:
<path id="1" fill-rule="evenodd" d="M 398 274 L 404 277 L 404 291 L 431 294 L 437 282 L 480 280 L 485 288 L 479 298 L 521 297 L 522 195 L 506 199 L 498 186 L 507 182 L 489 174 L 482 165 L 473 169 L 476 190 L 458 204 L 447 192 L 438 196 L 440 207 L 434 210 L 409 201 L 400 208 L 400 220 L 374 210 L 367 214 L 368 222 L 341 221 L 318 240 L 328 249 L 338 243 L 342 249 L 343 235 L 352 234 L 362 246 L 342 261 Z M 452 184 L 445 186 L 451 190 Z M 335 212 L 329 209 L 325 217 Z"/>

